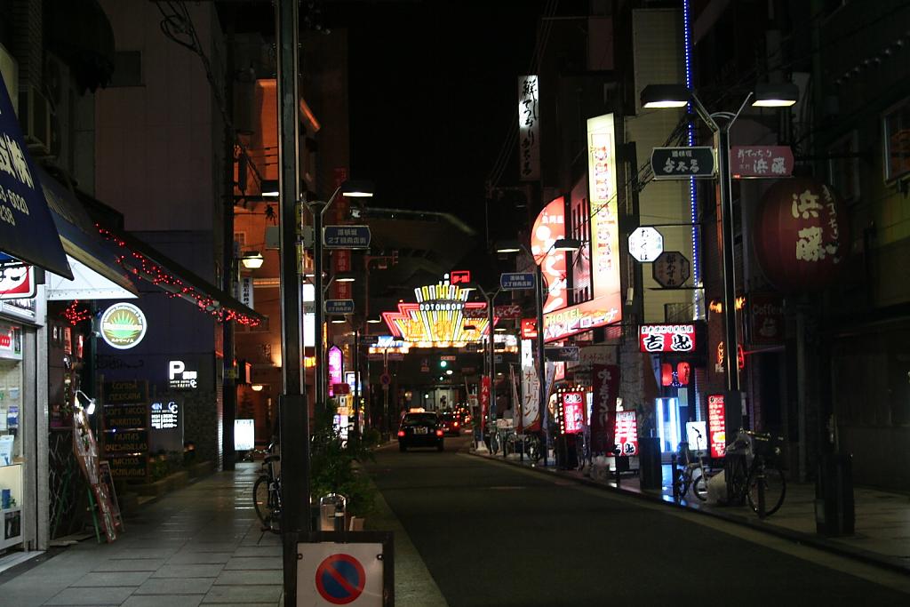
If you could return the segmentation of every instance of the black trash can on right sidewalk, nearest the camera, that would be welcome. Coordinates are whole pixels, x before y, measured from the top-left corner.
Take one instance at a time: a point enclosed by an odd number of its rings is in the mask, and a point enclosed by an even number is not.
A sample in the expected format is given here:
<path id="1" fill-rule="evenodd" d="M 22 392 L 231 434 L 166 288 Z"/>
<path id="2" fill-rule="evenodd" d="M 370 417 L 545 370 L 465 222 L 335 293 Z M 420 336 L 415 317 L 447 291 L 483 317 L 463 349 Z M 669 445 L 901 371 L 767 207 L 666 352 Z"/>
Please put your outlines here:
<path id="1" fill-rule="evenodd" d="M 826 453 L 815 481 L 815 531 L 828 537 L 853 535 L 855 521 L 853 455 Z"/>

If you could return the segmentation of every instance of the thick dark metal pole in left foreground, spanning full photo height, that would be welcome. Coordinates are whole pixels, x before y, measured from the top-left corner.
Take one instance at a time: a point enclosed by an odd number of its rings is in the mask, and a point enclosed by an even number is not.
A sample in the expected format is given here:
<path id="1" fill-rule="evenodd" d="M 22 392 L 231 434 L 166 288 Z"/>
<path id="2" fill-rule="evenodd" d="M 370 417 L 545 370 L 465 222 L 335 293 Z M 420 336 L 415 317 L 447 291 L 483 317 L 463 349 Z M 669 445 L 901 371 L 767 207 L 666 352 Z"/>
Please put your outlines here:
<path id="1" fill-rule="evenodd" d="M 297 266 L 298 0 L 278 0 L 278 179 L 281 283 L 281 534 L 284 604 L 297 604 L 297 540 L 309 531 L 309 407 L 303 390 L 300 284 Z M 319 292 L 317 292 L 319 297 Z"/>

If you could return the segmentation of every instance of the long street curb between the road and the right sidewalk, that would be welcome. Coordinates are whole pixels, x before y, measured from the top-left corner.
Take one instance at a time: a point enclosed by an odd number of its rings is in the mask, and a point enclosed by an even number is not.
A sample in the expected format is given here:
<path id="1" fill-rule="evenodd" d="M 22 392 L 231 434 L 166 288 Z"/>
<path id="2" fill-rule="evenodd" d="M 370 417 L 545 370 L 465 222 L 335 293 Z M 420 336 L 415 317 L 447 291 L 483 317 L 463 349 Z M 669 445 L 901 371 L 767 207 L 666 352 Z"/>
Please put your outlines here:
<path id="1" fill-rule="evenodd" d="M 903 573 L 905 575 L 910 575 L 910 562 L 904 562 L 895 557 L 886 557 L 881 554 L 876 554 L 872 551 L 864 551 L 859 548 L 852 548 L 850 546 L 843 546 L 840 544 L 835 544 L 833 541 L 827 541 L 824 538 L 815 537 L 808 533 L 803 533 L 801 531 L 793 531 L 789 529 L 784 529 L 781 527 L 775 527 L 773 525 L 764 524 L 762 521 L 755 519 L 749 519 L 741 516 L 736 516 L 733 514 L 727 514 L 725 512 L 715 512 L 715 511 L 706 511 L 697 507 L 697 504 L 689 505 L 688 503 L 679 503 L 673 501 L 663 500 L 661 496 L 658 496 L 654 493 L 646 493 L 644 491 L 627 491 L 622 489 L 622 487 L 612 487 L 610 485 L 604 485 L 602 482 L 592 481 L 591 479 L 577 478 L 568 474 L 563 474 L 561 470 L 548 470 L 545 468 L 539 468 L 536 466 L 526 466 L 521 464 L 518 461 L 506 460 L 504 458 L 497 458 L 494 456 L 483 455 L 476 453 L 473 450 L 462 451 L 468 453 L 474 457 L 480 458 L 482 460 L 491 460 L 500 462 L 503 464 L 508 464 L 516 468 L 521 468 L 522 470 L 531 470 L 540 474 L 551 474 L 553 476 L 558 476 L 561 479 L 568 481 L 577 482 L 580 485 L 586 487 L 592 487 L 595 489 L 600 489 L 604 491 L 612 491 L 614 493 L 620 493 L 624 496 L 637 498 L 643 501 L 650 501 L 652 503 L 660 503 L 663 506 L 667 506 L 673 509 L 682 509 L 684 511 L 697 512 L 704 516 L 710 516 L 715 519 L 720 519 L 721 521 L 733 522 L 743 527 L 748 527 L 753 531 L 763 531 L 769 535 L 774 535 L 784 540 L 794 541 L 796 543 L 802 543 L 819 550 L 824 550 L 828 552 L 833 552 L 841 556 L 846 556 L 852 558 L 856 561 L 863 561 L 868 564 L 873 564 L 879 567 L 884 567 L 894 572 Z"/>

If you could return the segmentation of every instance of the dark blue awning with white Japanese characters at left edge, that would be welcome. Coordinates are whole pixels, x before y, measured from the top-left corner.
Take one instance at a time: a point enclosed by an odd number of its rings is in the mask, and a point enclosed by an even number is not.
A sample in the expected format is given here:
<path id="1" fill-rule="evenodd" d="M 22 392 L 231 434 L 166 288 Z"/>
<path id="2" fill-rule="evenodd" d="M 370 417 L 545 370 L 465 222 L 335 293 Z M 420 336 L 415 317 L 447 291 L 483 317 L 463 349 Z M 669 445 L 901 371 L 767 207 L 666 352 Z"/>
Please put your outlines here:
<path id="1" fill-rule="evenodd" d="M 0 76 L 0 262 L 10 256 L 73 279 L 35 165 Z M 3 255 L 5 253 L 6 255 Z"/>

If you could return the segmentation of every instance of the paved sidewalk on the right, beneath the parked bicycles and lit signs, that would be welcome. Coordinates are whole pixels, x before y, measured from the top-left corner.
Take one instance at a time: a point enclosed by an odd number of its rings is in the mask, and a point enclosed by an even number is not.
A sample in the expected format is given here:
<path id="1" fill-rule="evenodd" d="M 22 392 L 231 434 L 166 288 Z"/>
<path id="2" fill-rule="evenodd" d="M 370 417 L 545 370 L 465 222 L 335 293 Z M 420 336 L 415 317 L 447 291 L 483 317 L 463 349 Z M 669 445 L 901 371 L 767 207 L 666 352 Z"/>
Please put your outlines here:
<path id="1" fill-rule="evenodd" d="M 475 453 L 483 457 L 494 457 L 489 452 Z M 501 456 L 497 460 L 503 460 Z M 510 463 L 531 467 L 531 462 L 521 462 L 516 455 L 510 455 Z M 552 461 L 551 461 L 552 464 Z M 539 470 L 560 474 L 594 486 L 623 491 L 642 498 L 664 501 L 682 508 L 702 511 L 729 521 L 762 529 L 784 537 L 802 541 L 825 550 L 885 565 L 897 571 L 910 573 L 910 495 L 854 489 L 855 532 L 844 537 L 824 537 L 815 531 L 815 486 L 814 483 L 788 481 L 784 505 L 773 516 L 763 521 L 748 507 L 726 507 L 696 500 L 690 492 L 679 502 L 673 501 L 670 466 L 663 466 L 663 483 L 660 491 L 642 490 L 637 476 L 622 477 L 617 487 L 612 478 L 595 481 L 585 472 L 577 470 L 556 470 L 554 466 Z"/>

